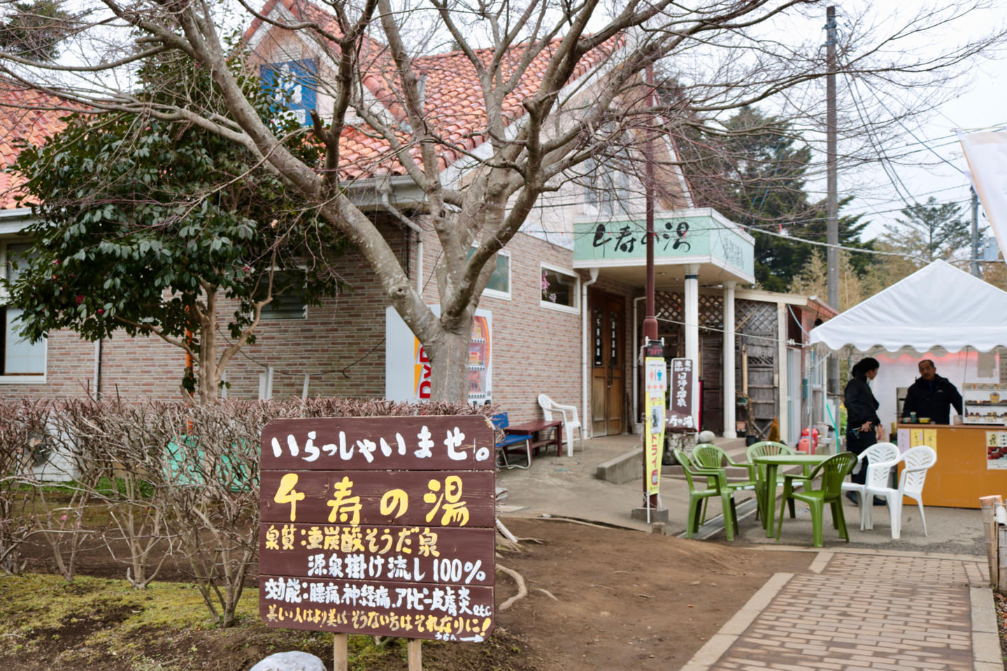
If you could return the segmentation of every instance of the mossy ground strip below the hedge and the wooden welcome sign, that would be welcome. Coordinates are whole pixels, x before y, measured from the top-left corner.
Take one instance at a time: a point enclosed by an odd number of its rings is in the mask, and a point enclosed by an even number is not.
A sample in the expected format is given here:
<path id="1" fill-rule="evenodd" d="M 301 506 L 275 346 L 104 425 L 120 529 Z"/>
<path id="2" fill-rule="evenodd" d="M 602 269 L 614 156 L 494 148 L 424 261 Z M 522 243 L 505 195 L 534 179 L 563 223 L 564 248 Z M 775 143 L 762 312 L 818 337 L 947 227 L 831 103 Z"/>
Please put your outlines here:
<path id="1" fill-rule="evenodd" d="M 19 671 L 240 671 L 275 652 L 302 650 L 332 663 L 330 634 L 266 627 L 259 597 L 246 589 L 238 623 L 220 629 L 202 597 L 185 582 L 152 582 L 134 590 L 121 579 L 82 575 L 0 578 L 0 669 Z M 512 660 L 520 644 L 493 635 L 479 646 L 424 642 L 424 669 L 529 667 Z M 373 637 L 349 638 L 354 671 L 406 668 L 406 645 L 376 646 Z M 473 665 L 474 662 L 474 665 Z"/>

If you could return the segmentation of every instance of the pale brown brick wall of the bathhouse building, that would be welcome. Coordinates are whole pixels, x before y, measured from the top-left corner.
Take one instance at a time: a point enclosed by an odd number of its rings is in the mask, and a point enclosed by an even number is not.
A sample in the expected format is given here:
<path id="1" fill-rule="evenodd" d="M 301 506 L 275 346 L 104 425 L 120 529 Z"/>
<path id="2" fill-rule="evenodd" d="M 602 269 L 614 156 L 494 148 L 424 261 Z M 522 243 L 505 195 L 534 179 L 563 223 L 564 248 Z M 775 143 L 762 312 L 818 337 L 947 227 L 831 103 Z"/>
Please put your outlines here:
<path id="1" fill-rule="evenodd" d="M 382 229 L 393 248 L 404 255 L 401 229 L 393 224 Z M 415 238 L 409 246 L 410 268 L 414 270 Z M 512 264 L 511 299 L 483 297 L 480 303 L 492 313 L 493 401 L 511 412 L 513 422 L 542 416 L 539 393 L 580 408 L 581 317 L 543 307 L 541 301 L 541 264 L 574 273 L 570 270 L 573 254 L 524 233 L 516 235 L 507 248 Z M 433 275 L 438 249 L 435 235 L 428 232 L 423 255 L 424 299 L 428 304 L 438 302 Z M 347 251 L 338 265 L 348 284 L 346 291 L 320 308 L 308 308 L 306 319 L 263 322 L 256 343 L 246 346 L 228 366 L 230 397 L 258 397 L 259 375 L 267 364 L 275 368 L 274 396 L 299 396 L 305 373 L 311 374 L 312 396 L 384 396 L 387 302 L 357 253 Z M 631 293 L 627 287 L 604 280 L 597 286 L 627 297 Z M 630 308 L 627 298 L 627 362 L 631 361 Z M 223 314 L 229 310 L 222 306 Z M 82 395 L 94 385 L 94 343 L 69 332 L 54 333 L 48 343 L 46 383 L 0 385 L 0 397 Z M 180 349 L 157 338 L 117 334 L 102 343 L 101 391 L 122 397 L 177 397 L 184 363 Z M 627 366 L 627 380 L 630 369 Z"/>

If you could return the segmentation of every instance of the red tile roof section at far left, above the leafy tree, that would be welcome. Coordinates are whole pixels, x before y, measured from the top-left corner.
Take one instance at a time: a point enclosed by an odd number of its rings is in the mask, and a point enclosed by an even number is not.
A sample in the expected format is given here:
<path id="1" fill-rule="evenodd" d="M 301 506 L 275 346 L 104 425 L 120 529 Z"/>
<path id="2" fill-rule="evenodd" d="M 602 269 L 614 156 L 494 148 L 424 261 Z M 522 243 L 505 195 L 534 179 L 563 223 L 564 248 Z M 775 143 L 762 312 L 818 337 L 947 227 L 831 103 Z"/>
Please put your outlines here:
<path id="1" fill-rule="evenodd" d="M 0 81 L 0 209 L 17 207 L 24 179 L 10 172 L 25 143 L 40 145 L 65 128 L 58 98 L 11 81 Z"/>

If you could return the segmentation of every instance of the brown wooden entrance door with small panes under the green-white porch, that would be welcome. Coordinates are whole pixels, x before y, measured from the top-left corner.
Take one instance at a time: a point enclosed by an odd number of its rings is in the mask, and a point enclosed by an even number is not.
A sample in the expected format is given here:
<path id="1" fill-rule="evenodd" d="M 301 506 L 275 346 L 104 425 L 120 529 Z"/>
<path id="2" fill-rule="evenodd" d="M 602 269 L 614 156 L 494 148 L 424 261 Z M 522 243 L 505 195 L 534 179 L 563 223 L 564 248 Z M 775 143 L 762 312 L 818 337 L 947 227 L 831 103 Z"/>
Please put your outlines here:
<path id="1" fill-rule="evenodd" d="M 615 436 L 625 427 L 625 299 L 591 294 L 591 429 L 595 436 Z"/>

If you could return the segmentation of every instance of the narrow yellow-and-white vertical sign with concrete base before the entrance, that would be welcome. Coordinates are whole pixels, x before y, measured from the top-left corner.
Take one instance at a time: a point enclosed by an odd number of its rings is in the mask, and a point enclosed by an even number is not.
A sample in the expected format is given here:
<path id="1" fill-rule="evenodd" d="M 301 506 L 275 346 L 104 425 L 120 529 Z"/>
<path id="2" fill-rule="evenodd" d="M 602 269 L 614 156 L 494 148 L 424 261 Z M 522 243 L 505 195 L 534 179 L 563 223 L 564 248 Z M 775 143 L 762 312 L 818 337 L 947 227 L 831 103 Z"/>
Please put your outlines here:
<path id="1" fill-rule="evenodd" d="M 665 343 L 648 339 L 643 345 L 643 505 L 631 513 L 648 524 L 668 521 L 668 510 L 661 504 L 661 457 L 665 448 L 667 390 Z"/>

